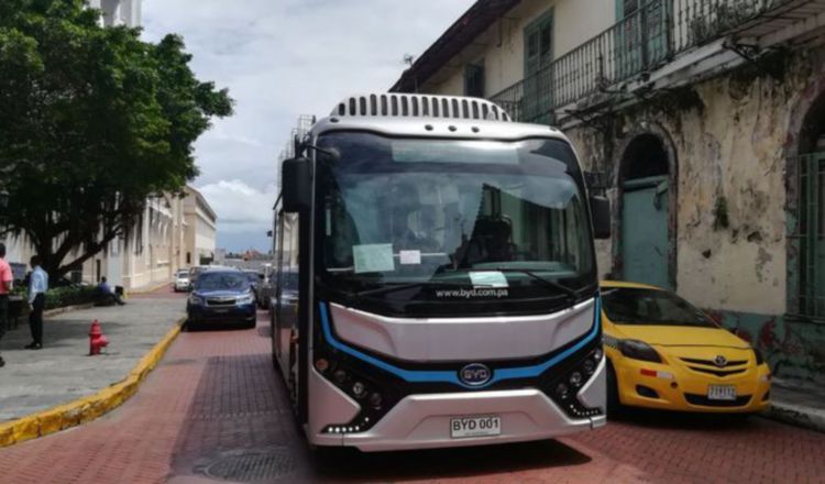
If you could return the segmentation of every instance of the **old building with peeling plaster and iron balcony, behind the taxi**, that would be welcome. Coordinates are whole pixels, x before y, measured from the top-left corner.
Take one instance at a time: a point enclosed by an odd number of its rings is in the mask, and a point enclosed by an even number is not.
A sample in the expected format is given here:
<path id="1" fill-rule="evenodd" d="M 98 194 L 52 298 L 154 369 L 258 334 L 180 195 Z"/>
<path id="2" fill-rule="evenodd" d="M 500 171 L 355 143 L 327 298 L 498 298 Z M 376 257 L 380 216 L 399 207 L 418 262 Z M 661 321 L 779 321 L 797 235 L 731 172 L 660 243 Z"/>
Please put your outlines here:
<path id="1" fill-rule="evenodd" d="M 717 315 L 825 381 L 825 2 L 481 0 L 394 91 L 492 99 L 612 200 L 605 276 Z"/>

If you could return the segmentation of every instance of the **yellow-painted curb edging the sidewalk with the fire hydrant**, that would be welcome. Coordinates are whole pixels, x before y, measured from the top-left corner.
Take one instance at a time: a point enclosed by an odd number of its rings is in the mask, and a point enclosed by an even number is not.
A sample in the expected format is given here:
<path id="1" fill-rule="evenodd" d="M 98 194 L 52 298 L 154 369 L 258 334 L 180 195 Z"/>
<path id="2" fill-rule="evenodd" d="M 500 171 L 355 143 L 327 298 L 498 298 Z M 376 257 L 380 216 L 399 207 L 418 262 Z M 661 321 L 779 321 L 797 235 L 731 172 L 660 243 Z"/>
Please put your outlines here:
<path id="1" fill-rule="evenodd" d="M 129 372 L 125 378 L 98 393 L 58 405 L 16 420 L 0 424 L 0 448 L 44 437 L 87 424 L 119 407 L 138 392 L 141 382 L 157 366 L 175 338 L 180 333 L 180 318 L 163 339 Z"/>

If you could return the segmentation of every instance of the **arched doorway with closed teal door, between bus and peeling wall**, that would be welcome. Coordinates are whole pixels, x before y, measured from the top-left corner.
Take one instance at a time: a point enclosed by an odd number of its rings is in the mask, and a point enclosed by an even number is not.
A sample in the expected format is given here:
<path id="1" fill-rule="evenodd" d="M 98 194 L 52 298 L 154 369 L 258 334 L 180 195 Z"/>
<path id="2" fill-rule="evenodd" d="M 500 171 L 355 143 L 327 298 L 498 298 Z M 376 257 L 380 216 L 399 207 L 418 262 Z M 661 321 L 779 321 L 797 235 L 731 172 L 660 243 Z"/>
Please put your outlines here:
<path id="1" fill-rule="evenodd" d="M 671 194 L 669 153 L 662 139 L 642 133 L 622 156 L 620 267 L 625 280 L 674 289 L 671 270 Z"/>

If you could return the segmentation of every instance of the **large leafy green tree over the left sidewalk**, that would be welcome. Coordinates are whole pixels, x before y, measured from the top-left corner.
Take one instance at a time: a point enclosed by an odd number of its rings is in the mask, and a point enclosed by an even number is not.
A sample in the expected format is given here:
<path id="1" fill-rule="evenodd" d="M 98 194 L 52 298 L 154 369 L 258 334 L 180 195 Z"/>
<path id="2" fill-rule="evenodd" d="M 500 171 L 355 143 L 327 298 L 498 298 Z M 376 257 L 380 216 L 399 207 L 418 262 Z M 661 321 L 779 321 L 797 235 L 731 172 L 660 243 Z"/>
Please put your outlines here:
<path id="1" fill-rule="evenodd" d="M 25 235 L 53 277 L 128 240 L 147 198 L 183 196 L 193 143 L 232 113 L 179 36 L 142 42 L 99 14 L 84 0 L 0 1 L 3 231 Z"/>

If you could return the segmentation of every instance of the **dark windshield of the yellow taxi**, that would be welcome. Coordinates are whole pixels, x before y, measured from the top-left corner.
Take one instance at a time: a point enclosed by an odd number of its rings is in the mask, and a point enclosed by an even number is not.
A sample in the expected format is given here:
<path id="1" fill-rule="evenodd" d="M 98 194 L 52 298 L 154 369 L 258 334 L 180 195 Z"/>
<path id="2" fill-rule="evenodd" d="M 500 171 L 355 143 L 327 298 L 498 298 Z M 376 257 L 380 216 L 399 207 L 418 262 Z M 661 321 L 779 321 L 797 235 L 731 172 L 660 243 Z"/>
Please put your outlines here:
<path id="1" fill-rule="evenodd" d="M 602 306 L 610 321 L 617 324 L 716 328 L 704 312 L 667 290 L 604 287 Z"/>

